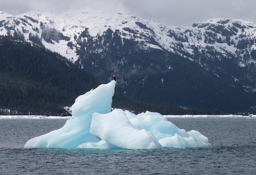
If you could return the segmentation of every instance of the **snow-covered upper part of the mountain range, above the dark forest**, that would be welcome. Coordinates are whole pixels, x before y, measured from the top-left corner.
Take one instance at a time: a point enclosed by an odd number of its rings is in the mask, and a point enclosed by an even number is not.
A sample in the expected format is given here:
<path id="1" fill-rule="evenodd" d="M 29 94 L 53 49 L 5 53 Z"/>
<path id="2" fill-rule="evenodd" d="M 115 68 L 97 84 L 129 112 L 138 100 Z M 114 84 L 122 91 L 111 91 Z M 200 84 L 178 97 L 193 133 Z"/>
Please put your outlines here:
<path id="1" fill-rule="evenodd" d="M 193 58 L 195 47 L 201 53 L 211 47 L 227 58 L 229 54 L 238 56 L 240 66 L 255 63 L 244 54 L 256 49 L 256 24 L 241 19 L 210 19 L 194 23 L 192 27 L 171 27 L 128 13 L 108 14 L 95 10 L 61 14 L 29 11 L 17 16 L 0 12 L 0 35 L 17 34 L 31 41 L 36 37 L 46 48 L 73 58 L 72 61 L 78 59 L 75 36 L 85 29 L 95 39 L 107 29 L 119 30 L 122 39 L 144 42 L 142 47 L 167 50 L 191 60 L 196 60 Z M 67 46 L 70 42 L 77 47 L 70 49 Z"/>

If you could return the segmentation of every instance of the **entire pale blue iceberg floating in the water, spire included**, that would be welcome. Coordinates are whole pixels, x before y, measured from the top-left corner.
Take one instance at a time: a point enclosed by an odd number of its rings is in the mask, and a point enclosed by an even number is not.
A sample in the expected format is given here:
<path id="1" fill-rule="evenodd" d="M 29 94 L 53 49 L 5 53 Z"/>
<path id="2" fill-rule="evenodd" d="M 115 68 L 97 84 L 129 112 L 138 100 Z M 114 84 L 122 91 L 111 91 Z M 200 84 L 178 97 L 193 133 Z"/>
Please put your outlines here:
<path id="1" fill-rule="evenodd" d="M 70 108 L 71 119 L 45 135 L 27 141 L 24 148 L 161 149 L 210 145 L 208 138 L 186 132 L 157 112 L 133 114 L 111 111 L 116 81 L 99 85 L 78 96 Z"/>

